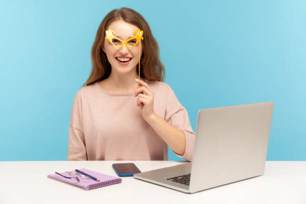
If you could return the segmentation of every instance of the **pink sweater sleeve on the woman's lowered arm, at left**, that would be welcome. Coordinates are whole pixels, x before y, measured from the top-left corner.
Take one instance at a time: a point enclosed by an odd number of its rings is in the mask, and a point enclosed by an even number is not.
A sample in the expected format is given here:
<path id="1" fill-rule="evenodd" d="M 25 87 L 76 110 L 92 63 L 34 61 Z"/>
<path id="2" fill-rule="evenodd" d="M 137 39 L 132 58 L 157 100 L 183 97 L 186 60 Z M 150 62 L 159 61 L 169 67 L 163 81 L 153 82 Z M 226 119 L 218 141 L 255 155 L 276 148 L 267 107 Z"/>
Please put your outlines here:
<path id="1" fill-rule="evenodd" d="M 80 90 L 75 94 L 71 108 L 67 160 L 87 160 Z"/>

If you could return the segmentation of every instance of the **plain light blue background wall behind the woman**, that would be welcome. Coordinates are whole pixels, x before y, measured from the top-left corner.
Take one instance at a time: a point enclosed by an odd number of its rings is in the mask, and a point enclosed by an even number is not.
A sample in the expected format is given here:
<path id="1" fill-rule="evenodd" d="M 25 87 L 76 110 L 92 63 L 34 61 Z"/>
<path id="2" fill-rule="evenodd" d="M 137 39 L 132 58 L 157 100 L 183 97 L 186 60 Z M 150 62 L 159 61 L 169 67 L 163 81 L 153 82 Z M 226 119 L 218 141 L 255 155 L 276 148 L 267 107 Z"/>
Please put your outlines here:
<path id="1" fill-rule="evenodd" d="M 267 160 L 306 160 L 306 1 L 125 1 L 0 1 L 0 160 L 66 160 L 97 28 L 123 6 L 149 23 L 194 131 L 200 108 L 274 101 Z"/>

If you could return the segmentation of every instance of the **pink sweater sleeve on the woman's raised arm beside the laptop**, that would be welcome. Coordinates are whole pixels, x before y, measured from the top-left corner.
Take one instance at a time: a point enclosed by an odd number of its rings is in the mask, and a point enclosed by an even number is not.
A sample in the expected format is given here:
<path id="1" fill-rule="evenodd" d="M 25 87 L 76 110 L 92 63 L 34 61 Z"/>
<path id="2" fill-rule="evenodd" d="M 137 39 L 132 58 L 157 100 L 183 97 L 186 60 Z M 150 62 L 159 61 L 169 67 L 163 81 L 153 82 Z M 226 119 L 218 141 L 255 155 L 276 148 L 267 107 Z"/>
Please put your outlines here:
<path id="1" fill-rule="evenodd" d="M 192 161 L 195 133 L 190 125 L 187 110 L 180 104 L 170 86 L 168 86 L 166 99 L 165 120 L 169 124 L 182 130 L 185 134 L 186 146 L 184 154 L 179 155 L 176 152 L 174 153 L 179 157 Z"/>

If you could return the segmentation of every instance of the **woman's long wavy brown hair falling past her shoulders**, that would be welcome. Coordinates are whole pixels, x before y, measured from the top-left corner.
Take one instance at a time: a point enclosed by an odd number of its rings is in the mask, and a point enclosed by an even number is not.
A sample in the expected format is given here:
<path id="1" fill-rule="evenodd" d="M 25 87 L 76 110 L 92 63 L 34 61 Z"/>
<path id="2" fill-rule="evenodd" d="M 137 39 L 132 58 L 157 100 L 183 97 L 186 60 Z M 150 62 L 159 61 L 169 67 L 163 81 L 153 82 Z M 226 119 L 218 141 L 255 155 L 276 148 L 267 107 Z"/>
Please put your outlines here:
<path id="1" fill-rule="evenodd" d="M 140 57 L 140 76 L 148 80 L 163 81 L 164 66 L 159 58 L 159 48 L 156 39 L 153 37 L 151 29 L 145 19 L 137 11 L 122 7 L 113 9 L 102 20 L 96 32 L 95 40 L 91 48 L 91 73 L 87 81 L 83 84 L 89 85 L 98 80 L 107 78 L 111 71 L 111 65 L 107 60 L 105 52 L 102 50 L 102 45 L 105 38 L 106 28 L 115 20 L 122 19 L 125 22 L 137 26 L 143 30 L 142 50 Z M 138 64 L 136 71 L 138 73 Z M 139 74 L 139 73 L 138 73 Z"/>

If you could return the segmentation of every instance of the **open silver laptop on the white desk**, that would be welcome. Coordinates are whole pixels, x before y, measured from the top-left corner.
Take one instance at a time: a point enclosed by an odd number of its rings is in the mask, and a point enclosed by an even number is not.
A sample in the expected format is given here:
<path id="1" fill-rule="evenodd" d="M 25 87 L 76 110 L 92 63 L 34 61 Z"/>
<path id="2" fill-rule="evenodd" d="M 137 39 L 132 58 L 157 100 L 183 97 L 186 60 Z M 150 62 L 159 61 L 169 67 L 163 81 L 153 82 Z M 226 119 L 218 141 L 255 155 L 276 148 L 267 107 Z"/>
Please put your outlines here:
<path id="1" fill-rule="evenodd" d="M 134 178 L 193 193 L 262 175 L 272 101 L 200 109 L 192 162 L 134 174 Z"/>

